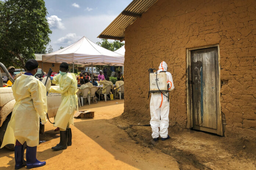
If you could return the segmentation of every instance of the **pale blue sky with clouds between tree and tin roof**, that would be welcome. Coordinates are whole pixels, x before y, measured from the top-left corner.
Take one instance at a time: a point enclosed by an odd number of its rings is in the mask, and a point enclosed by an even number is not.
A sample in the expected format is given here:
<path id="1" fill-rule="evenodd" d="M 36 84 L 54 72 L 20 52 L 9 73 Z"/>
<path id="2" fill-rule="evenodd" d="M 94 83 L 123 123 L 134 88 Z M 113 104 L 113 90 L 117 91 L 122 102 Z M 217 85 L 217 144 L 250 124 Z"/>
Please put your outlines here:
<path id="1" fill-rule="evenodd" d="M 86 36 L 93 42 L 132 0 L 45 0 L 53 51 Z"/>

